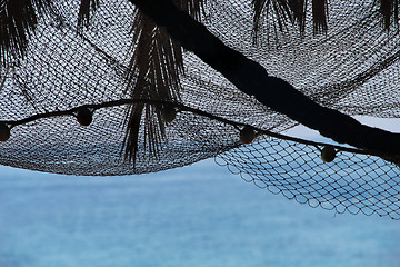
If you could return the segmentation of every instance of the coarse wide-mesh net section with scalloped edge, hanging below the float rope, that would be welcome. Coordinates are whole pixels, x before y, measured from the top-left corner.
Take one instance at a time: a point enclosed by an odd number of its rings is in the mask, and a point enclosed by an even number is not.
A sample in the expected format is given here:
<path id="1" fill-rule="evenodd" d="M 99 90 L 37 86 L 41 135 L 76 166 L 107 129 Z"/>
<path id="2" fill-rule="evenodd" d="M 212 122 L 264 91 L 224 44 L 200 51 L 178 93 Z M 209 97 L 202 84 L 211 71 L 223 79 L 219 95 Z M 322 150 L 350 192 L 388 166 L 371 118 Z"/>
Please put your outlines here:
<path id="1" fill-rule="evenodd" d="M 217 162 L 246 181 L 311 207 L 400 219 L 400 179 L 394 164 L 348 151 L 324 162 L 322 148 L 268 138 L 221 154 Z"/>

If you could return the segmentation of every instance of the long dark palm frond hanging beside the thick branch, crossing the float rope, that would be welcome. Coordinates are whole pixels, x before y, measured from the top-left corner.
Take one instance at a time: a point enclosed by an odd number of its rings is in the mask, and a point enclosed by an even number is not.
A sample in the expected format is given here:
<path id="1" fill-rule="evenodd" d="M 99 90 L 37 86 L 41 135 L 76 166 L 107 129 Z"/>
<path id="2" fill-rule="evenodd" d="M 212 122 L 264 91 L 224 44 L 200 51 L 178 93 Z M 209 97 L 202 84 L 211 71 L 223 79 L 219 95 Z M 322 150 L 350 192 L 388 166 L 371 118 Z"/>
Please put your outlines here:
<path id="1" fill-rule="evenodd" d="M 204 0 L 176 0 L 176 4 L 193 18 L 200 20 Z M 164 28 L 159 28 L 139 10 L 134 13 L 133 52 L 130 60 L 132 98 L 156 100 L 180 99 L 180 73 L 183 72 L 183 55 L 179 42 L 170 39 Z M 144 149 L 157 156 L 161 140 L 166 137 L 166 125 L 160 109 L 150 105 L 133 105 L 128 115 L 128 127 L 124 139 L 124 156 L 133 162 L 137 160 L 138 141 L 143 123 Z"/>

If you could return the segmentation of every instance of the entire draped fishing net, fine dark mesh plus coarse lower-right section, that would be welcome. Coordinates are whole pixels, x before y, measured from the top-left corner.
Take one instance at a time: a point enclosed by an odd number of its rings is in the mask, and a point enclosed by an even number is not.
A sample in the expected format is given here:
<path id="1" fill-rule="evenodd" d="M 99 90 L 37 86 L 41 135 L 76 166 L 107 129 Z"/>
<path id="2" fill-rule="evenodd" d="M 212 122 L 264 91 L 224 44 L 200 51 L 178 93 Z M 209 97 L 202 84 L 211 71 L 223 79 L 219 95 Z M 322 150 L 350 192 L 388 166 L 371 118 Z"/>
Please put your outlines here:
<path id="1" fill-rule="evenodd" d="M 180 98 L 169 102 L 177 118 L 166 123 L 157 152 L 149 148 L 147 128 L 140 128 L 133 166 L 124 157 L 131 106 L 166 105 L 131 97 L 138 85 L 151 86 L 129 76 L 136 8 L 126 0 L 100 1 L 82 30 L 78 0 L 52 2 L 24 57 L 10 57 L 0 67 L 0 120 L 11 127 L 10 139 L 0 144 L 1 165 L 116 176 L 217 157 L 244 179 L 300 202 L 399 219 L 396 164 L 340 146 L 332 162 L 322 161 L 324 144 L 280 136 L 298 122 L 239 91 L 189 51 Z M 204 1 L 201 22 L 322 106 L 347 115 L 400 116 L 400 36 L 382 28 L 376 1 L 330 1 L 329 30 L 317 36 L 309 20 L 303 33 L 291 24 L 280 29 L 274 12 L 266 13 L 254 32 L 252 12 L 251 1 Z M 93 112 L 88 127 L 77 122 L 82 107 Z M 258 135 L 246 146 L 244 126 Z"/>

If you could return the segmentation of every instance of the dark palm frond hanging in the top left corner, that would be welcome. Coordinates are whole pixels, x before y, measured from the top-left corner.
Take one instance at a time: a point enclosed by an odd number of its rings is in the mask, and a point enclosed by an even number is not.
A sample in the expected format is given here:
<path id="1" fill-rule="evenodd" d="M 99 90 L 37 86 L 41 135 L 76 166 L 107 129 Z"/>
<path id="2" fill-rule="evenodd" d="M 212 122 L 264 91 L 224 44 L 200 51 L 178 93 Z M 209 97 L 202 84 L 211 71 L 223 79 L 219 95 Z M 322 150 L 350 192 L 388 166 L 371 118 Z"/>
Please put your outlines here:
<path id="1" fill-rule="evenodd" d="M 51 8 L 50 0 L 6 0 L 0 6 L 0 57 L 22 57 L 39 17 Z"/>

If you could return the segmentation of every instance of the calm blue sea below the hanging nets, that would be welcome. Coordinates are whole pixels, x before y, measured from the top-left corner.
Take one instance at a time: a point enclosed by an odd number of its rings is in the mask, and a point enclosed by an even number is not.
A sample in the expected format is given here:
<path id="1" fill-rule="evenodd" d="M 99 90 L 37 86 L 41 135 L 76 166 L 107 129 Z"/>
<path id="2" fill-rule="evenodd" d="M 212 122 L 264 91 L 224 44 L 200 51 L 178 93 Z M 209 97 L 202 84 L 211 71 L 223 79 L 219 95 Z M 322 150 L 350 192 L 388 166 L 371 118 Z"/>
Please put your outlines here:
<path id="1" fill-rule="evenodd" d="M 0 168 L 0 267 L 399 267 L 400 221 L 336 215 L 212 160 L 143 176 Z"/>

